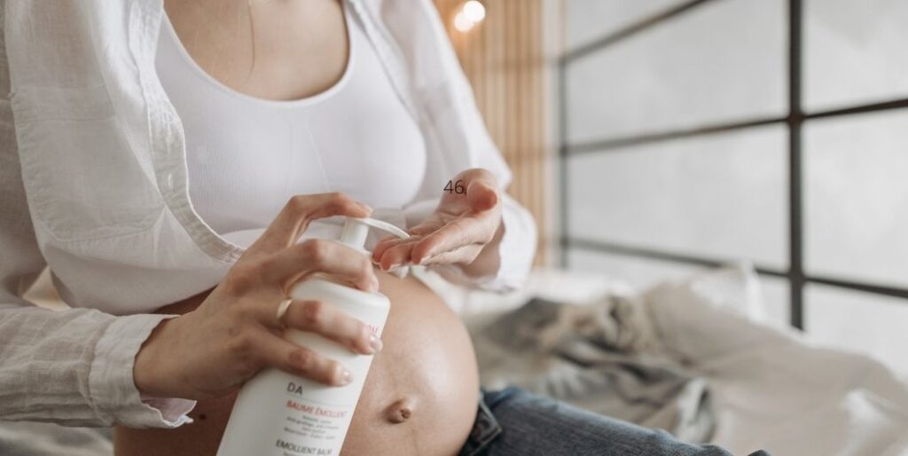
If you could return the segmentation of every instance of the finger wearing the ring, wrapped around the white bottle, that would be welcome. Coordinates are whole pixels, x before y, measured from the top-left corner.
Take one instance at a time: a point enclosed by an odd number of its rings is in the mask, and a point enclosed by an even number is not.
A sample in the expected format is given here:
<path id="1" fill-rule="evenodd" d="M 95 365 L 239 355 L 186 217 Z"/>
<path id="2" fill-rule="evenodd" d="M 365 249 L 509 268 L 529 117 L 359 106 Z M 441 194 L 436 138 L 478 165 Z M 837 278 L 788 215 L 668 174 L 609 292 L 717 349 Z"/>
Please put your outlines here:
<path id="1" fill-rule="evenodd" d="M 289 328 L 315 332 L 349 348 L 350 352 L 375 354 L 381 351 L 381 340 L 368 325 L 325 302 L 291 302 L 281 322 Z"/>

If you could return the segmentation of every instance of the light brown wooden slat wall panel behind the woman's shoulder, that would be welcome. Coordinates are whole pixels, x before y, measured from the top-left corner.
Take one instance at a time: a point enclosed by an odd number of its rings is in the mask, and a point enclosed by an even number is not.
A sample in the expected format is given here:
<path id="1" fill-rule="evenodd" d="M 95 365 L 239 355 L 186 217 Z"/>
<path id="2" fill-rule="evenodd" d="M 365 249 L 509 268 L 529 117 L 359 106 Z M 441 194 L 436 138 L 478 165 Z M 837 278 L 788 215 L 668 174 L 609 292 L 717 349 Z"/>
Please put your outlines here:
<path id="1" fill-rule="evenodd" d="M 542 0 L 483 0 L 486 20 L 468 33 L 453 27 L 463 0 L 435 0 L 489 134 L 514 172 L 508 192 L 539 227 L 537 263 L 546 261 L 546 125 Z"/>

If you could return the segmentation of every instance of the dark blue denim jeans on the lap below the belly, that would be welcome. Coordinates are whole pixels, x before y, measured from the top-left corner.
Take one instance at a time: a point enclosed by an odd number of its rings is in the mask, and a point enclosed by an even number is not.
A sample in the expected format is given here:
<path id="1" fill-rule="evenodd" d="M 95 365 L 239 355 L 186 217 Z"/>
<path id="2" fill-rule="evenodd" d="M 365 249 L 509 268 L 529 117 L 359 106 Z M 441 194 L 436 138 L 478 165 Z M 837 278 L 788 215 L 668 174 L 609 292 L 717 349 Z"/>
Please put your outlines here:
<path id="1" fill-rule="evenodd" d="M 527 455 L 732 456 L 715 445 L 678 441 L 518 388 L 482 392 L 479 413 L 460 456 Z M 768 456 L 756 451 L 751 456 Z"/>

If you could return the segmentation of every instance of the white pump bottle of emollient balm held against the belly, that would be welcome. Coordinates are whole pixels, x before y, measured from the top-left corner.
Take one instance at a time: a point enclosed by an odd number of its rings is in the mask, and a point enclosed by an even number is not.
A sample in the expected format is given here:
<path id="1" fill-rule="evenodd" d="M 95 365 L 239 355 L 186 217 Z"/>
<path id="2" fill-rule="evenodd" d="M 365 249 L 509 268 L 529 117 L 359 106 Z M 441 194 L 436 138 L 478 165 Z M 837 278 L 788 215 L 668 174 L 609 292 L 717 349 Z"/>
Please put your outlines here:
<path id="1" fill-rule="evenodd" d="M 368 254 L 364 245 L 370 226 L 409 237 L 390 223 L 350 217 L 339 241 Z M 390 311 L 390 301 L 384 294 L 363 292 L 322 277 L 297 283 L 290 297 L 326 302 L 365 322 L 379 337 Z M 233 404 L 218 456 L 335 456 L 341 452 L 372 356 L 350 352 L 311 332 L 288 330 L 284 337 L 341 362 L 352 374 L 352 382 L 328 386 L 277 369 L 259 372 L 246 382 Z"/>

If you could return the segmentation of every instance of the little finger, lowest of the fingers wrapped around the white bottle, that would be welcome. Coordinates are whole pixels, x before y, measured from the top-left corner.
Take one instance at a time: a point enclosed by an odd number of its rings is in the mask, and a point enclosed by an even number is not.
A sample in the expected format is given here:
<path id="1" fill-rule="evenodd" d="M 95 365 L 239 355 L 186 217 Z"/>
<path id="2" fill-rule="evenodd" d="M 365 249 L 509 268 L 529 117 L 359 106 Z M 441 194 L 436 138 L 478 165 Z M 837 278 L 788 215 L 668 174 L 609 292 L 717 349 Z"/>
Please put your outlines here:
<path id="1" fill-rule="evenodd" d="M 346 385 L 352 374 L 340 362 L 301 347 L 281 336 L 262 330 L 252 336 L 252 344 L 261 363 L 283 372 L 333 386 Z"/>

